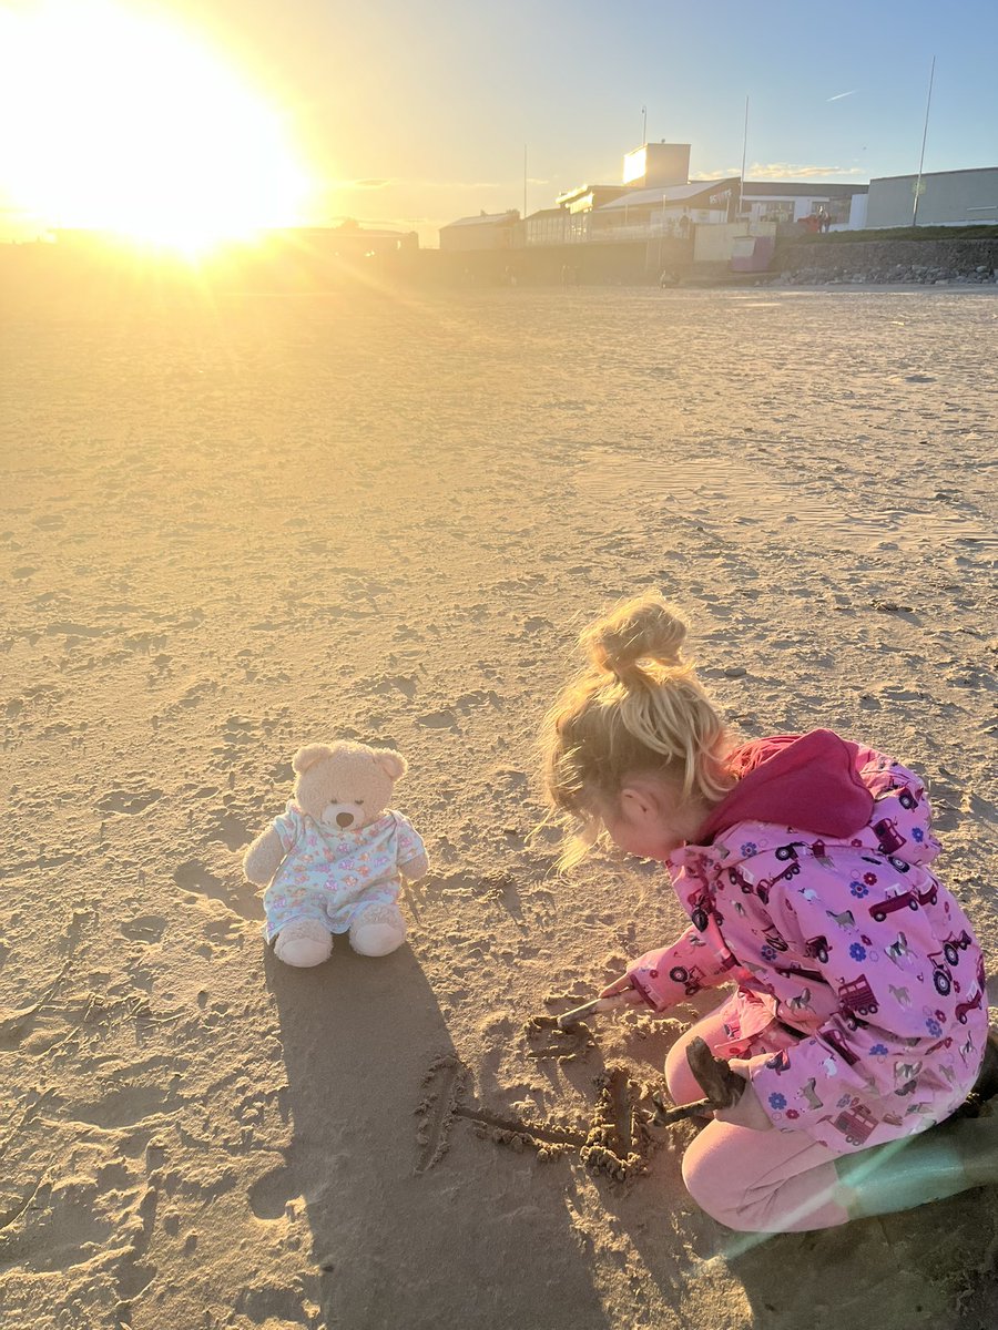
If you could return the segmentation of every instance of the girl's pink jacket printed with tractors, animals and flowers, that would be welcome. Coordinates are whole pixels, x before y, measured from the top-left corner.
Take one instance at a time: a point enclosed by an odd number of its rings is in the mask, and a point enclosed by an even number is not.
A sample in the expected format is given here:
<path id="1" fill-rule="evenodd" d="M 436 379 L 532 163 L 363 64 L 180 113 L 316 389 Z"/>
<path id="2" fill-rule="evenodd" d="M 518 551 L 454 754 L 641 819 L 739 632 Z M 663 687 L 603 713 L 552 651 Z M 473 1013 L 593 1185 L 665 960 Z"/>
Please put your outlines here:
<path id="1" fill-rule="evenodd" d="M 790 1031 L 790 1047 L 752 1057 L 752 1085 L 776 1127 L 844 1154 L 958 1108 L 983 1059 L 987 995 L 973 928 L 927 868 L 939 845 L 922 782 L 821 730 L 770 741 L 786 745 L 774 770 L 814 741 L 846 751 L 865 823 L 828 835 L 749 817 L 677 850 L 668 867 L 692 927 L 628 974 L 657 1011 L 733 980 L 724 1051 L 750 1056 L 774 1021 Z M 806 782 L 800 765 L 793 775 Z M 808 821 L 834 823 L 834 809 Z"/>

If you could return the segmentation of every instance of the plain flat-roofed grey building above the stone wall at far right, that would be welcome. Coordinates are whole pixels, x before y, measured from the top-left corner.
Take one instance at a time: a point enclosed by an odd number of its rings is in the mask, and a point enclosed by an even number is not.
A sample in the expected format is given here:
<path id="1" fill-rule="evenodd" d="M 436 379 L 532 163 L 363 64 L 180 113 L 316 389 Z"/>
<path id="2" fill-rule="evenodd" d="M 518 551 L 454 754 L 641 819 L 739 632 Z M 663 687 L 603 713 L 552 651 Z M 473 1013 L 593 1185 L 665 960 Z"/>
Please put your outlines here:
<path id="1" fill-rule="evenodd" d="M 912 226 L 918 188 L 918 226 L 998 222 L 998 166 L 884 176 L 870 181 L 866 225 Z"/>

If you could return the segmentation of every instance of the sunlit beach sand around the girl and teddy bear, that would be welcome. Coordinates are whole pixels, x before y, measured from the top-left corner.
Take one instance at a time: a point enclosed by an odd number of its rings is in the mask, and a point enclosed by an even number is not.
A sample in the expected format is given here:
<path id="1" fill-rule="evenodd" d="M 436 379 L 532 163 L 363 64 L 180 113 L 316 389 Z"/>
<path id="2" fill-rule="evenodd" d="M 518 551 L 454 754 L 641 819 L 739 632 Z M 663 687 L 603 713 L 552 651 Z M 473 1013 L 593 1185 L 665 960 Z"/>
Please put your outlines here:
<path id="1" fill-rule="evenodd" d="M 649 1093 L 696 1016 L 551 1017 L 684 916 L 554 875 L 534 742 L 655 585 L 733 722 L 930 781 L 998 972 L 998 298 L 19 298 L 3 325 L 5 1330 L 978 1330 L 985 1192 L 741 1238 Z M 244 847 L 395 745 L 410 942 L 265 955 Z M 531 1024 L 531 1017 L 547 1017 Z"/>

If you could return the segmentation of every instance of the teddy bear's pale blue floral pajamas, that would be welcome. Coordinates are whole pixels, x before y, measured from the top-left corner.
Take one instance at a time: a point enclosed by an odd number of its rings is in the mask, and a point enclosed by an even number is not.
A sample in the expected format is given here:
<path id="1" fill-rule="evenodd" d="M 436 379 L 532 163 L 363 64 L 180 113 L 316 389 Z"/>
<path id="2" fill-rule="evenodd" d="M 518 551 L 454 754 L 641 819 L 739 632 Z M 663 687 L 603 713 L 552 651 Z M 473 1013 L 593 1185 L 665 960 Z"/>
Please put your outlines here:
<path id="1" fill-rule="evenodd" d="M 330 932 L 347 932 L 363 906 L 398 900 L 398 867 L 424 853 L 409 818 L 391 809 L 359 831 L 341 831 L 310 818 L 291 801 L 274 818 L 273 830 L 285 857 L 263 894 L 267 942 L 299 919 L 317 919 Z"/>

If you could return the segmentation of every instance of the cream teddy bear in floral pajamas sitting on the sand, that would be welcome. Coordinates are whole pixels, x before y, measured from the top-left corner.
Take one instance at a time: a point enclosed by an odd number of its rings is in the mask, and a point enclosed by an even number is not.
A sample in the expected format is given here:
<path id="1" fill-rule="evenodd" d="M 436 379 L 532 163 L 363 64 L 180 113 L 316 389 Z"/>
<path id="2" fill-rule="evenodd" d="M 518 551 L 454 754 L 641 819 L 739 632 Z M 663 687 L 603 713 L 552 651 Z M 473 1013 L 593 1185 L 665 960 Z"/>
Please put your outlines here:
<path id="1" fill-rule="evenodd" d="M 294 754 L 293 798 L 244 855 L 242 870 L 266 887 L 265 936 L 287 966 L 319 966 L 334 934 L 362 956 L 387 956 L 406 940 L 401 876 L 422 878 L 426 847 L 389 807 L 406 759 L 391 749 L 338 741 Z"/>

